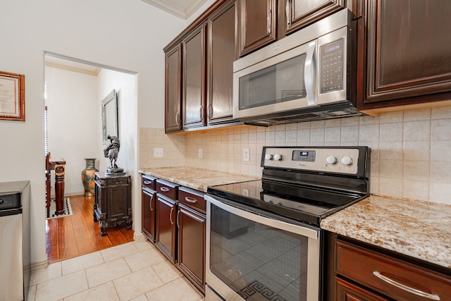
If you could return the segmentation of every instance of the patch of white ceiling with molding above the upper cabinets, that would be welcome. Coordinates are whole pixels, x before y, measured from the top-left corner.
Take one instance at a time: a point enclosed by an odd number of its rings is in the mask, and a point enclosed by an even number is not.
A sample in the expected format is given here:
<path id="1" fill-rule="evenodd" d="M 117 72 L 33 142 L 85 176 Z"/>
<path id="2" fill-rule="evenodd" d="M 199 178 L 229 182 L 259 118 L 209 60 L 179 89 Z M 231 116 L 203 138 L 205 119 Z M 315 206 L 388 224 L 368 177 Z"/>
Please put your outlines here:
<path id="1" fill-rule="evenodd" d="M 178 18 L 187 19 L 206 2 L 206 0 L 142 0 Z"/>

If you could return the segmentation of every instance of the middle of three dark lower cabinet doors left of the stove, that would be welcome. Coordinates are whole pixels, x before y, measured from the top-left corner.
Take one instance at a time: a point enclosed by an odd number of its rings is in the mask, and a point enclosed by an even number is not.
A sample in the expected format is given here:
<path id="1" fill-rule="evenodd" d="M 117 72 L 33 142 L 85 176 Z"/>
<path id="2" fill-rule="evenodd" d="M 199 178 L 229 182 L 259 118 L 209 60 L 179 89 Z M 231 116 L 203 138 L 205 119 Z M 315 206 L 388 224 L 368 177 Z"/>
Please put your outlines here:
<path id="1" fill-rule="evenodd" d="M 172 199 L 156 197 L 156 246 L 175 262 L 175 206 Z"/>

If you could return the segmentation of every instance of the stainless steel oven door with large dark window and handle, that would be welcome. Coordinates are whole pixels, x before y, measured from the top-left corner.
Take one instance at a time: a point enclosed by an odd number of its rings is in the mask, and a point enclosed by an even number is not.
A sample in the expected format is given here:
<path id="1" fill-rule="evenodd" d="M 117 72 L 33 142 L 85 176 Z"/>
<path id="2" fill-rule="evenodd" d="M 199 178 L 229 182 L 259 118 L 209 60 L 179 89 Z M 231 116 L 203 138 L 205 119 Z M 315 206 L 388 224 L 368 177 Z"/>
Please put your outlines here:
<path id="1" fill-rule="evenodd" d="M 205 199 L 206 300 L 319 300 L 319 228 Z"/>

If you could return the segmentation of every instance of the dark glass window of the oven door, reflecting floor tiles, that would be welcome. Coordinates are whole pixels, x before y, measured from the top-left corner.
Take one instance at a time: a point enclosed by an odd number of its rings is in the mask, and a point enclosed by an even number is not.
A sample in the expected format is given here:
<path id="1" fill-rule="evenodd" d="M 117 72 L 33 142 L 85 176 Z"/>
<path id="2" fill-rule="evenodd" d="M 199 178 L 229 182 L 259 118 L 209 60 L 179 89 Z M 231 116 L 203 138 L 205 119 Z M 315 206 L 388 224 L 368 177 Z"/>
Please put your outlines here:
<path id="1" fill-rule="evenodd" d="M 308 239 L 211 204 L 210 270 L 245 300 L 307 300 Z"/>

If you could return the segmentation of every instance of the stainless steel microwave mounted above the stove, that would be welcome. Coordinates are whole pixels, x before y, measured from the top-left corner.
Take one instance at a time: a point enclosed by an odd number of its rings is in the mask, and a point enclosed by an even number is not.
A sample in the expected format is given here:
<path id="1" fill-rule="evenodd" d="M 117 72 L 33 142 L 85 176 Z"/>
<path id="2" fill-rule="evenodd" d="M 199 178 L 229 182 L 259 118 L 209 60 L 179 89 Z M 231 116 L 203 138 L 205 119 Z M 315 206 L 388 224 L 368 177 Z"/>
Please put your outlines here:
<path id="1" fill-rule="evenodd" d="M 233 63 L 233 118 L 272 125 L 363 115 L 357 24 L 342 9 Z"/>

